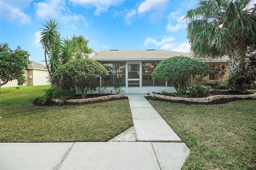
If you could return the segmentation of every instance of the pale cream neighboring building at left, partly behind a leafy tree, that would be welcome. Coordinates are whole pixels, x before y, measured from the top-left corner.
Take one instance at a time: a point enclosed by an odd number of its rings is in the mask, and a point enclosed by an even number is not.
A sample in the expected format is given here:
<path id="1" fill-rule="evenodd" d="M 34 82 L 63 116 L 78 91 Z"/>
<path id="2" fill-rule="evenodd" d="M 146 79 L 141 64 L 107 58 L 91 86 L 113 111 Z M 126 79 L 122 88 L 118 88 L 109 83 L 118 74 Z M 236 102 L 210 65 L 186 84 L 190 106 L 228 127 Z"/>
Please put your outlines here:
<path id="1" fill-rule="evenodd" d="M 29 59 L 30 60 L 30 59 Z M 28 65 L 28 69 L 25 70 L 26 83 L 23 86 L 36 86 L 36 85 L 47 85 L 48 70 L 46 66 L 35 61 L 30 60 L 31 63 Z M 14 87 L 18 86 L 17 80 L 12 80 L 3 85 L 2 87 Z"/>

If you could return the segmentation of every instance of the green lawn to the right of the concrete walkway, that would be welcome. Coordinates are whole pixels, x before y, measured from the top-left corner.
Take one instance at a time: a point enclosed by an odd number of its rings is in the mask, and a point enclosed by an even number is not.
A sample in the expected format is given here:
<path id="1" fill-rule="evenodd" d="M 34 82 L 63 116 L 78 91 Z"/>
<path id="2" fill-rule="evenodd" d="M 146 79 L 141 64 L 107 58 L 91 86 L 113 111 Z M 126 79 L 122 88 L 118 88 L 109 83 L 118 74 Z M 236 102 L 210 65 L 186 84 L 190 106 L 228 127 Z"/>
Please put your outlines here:
<path id="1" fill-rule="evenodd" d="M 191 150 L 183 169 L 256 169 L 256 100 L 149 102 Z"/>

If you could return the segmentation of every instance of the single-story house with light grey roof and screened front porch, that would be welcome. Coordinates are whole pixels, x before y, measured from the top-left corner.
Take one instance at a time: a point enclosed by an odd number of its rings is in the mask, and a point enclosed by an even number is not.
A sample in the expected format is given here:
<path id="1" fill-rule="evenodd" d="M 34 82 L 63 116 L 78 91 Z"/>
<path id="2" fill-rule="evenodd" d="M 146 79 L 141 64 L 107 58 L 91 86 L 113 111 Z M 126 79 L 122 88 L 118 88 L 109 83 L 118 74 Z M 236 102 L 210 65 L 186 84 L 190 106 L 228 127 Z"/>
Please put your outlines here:
<path id="1" fill-rule="evenodd" d="M 105 93 L 115 93 L 113 83 L 119 82 L 123 85 L 124 93 L 152 93 L 175 92 L 169 81 L 152 80 L 151 73 L 157 64 L 174 56 L 193 57 L 192 53 L 183 53 L 166 50 L 101 50 L 91 57 L 92 60 L 100 62 L 108 70 L 109 76 L 94 80 L 94 84 L 100 88 L 106 87 Z M 202 60 L 211 68 L 218 68 L 221 64 L 228 66 L 228 58 L 225 59 L 198 59 Z M 214 70 L 213 70 L 214 71 Z M 218 76 L 214 72 L 206 77 L 207 82 L 214 82 Z M 195 81 L 191 80 L 194 85 Z"/>

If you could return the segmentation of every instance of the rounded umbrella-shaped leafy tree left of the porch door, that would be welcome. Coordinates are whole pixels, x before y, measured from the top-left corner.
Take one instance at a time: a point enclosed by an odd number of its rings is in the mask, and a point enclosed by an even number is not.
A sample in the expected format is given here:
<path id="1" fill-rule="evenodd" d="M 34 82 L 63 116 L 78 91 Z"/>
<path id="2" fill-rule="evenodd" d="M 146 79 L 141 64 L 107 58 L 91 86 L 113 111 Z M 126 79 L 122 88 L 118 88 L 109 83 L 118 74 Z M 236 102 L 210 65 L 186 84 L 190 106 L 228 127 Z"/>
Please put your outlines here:
<path id="1" fill-rule="evenodd" d="M 91 59 L 77 59 L 70 60 L 66 64 L 63 64 L 56 70 L 53 75 L 53 80 L 58 82 L 61 87 L 66 81 L 70 85 L 74 85 L 78 88 L 82 94 L 82 98 L 86 98 L 86 94 L 93 78 L 100 76 L 104 77 L 108 75 L 106 68 Z M 65 80 L 65 82 L 63 82 Z"/>

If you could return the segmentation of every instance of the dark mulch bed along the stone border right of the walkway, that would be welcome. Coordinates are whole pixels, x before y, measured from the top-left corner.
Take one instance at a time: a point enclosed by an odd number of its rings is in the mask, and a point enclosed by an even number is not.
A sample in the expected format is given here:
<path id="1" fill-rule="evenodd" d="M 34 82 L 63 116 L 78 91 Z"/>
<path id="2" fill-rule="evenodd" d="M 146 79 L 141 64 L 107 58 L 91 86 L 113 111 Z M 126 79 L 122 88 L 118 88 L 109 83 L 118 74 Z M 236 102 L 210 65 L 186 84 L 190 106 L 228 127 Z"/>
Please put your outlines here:
<path id="1" fill-rule="evenodd" d="M 237 91 L 227 91 L 227 90 L 213 90 L 211 93 L 212 95 L 240 95 L 240 94 L 252 94 L 251 92 L 247 93 L 240 93 Z M 169 94 L 169 96 L 174 96 L 173 94 Z M 208 94 L 198 93 L 197 95 L 192 95 L 190 98 L 205 98 L 208 97 Z M 189 101 L 183 101 L 183 100 L 169 100 L 169 99 L 162 99 L 162 98 L 156 98 L 151 96 L 145 97 L 147 100 L 157 100 L 161 102 L 169 102 L 169 103 L 181 103 L 181 104 L 198 104 L 198 105 L 212 105 L 212 104 L 226 104 L 229 102 L 237 101 L 237 100 L 252 100 L 252 98 L 230 98 L 230 99 L 216 99 L 212 102 L 189 102 Z M 254 100 L 254 99 L 253 99 Z"/>

